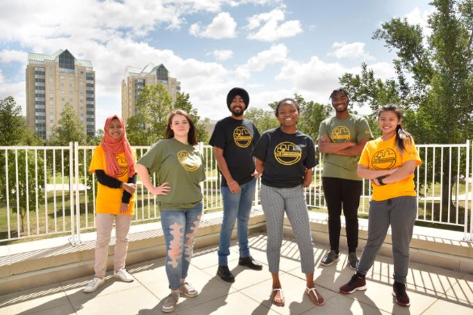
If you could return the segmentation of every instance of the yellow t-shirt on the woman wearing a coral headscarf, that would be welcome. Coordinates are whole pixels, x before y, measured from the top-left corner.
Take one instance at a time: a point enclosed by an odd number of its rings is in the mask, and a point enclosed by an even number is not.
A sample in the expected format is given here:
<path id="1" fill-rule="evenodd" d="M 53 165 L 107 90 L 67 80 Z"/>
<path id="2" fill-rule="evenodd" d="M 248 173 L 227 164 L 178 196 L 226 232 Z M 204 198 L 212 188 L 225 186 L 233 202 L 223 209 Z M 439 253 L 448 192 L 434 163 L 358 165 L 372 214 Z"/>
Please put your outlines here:
<path id="1" fill-rule="evenodd" d="M 120 165 L 120 168 L 122 169 L 122 172 L 120 173 L 120 175 L 118 175 L 117 179 L 126 183 L 128 181 L 128 168 L 125 152 L 116 154 L 115 158 L 118 161 L 118 165 Z M 105 151 L 102 148 L 102 145 L 97 145 L 92 156 L 92 161 L 90 161 L 89 172 L 95 172 L 95 170 L 104 170 L 104 172 L 106 173 L 107 169 L 105 164 Z M 95 212 L 108 214 L 123 214 L 120 213 L 120 204 L 122 203 L 123 191 L 125 189 L 110 188 L 100 183 L 97 183 L 97 186 L 98 188 L 97 200 L 95 202 Z M 134 214 L 135 195 L 136 193 L 131 195 L 128 204 L 128 212 L 125 213 L 125 215 Z"/>

